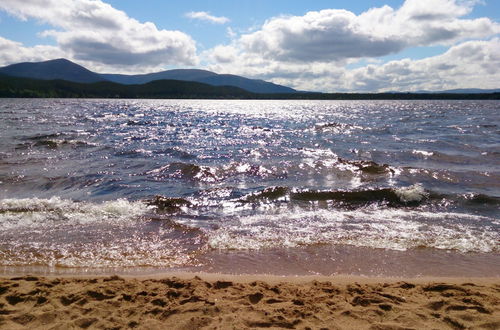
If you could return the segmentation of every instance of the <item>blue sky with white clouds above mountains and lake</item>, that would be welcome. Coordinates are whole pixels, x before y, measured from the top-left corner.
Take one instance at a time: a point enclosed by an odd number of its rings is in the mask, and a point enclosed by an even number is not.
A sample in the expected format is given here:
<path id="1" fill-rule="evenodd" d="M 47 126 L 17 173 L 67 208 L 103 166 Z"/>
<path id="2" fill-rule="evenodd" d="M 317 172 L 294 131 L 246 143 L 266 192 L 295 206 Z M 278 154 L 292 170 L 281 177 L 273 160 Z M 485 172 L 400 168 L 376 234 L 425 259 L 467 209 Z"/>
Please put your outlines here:
<path id="1" fill-rule="evenodd" d="M 199 68 L 298 90 L 500 88 L 500 0 L 0 0 L 0 66 Z"/>

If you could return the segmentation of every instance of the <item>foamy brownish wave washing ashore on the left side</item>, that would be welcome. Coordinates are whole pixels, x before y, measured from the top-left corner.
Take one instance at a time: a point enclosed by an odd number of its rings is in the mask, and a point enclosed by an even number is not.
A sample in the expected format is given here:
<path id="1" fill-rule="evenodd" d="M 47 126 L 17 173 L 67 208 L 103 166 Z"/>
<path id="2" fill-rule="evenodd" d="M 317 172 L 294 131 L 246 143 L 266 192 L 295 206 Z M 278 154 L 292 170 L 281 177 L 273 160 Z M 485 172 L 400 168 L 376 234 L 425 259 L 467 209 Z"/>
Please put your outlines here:
<path id="1" fill-rule="evenodd" d="M 205 246 L 188 227 L 142 201 L 91 203 L 49 199 L 0 201 L 0 265 L 175 267 Z"/>

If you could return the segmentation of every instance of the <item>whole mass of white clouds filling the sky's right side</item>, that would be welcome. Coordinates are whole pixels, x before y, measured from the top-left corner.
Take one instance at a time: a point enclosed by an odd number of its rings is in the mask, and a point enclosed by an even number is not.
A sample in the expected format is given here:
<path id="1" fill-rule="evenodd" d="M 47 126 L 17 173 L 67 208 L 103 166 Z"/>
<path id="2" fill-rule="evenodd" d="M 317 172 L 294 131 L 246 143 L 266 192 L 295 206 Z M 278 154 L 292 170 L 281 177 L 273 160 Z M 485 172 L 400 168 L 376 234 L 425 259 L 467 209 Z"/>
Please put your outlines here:
<path id="1" fill-rule="evenodd" d="M 488 18 L 461 18 L 476 2 L 407 0 L 396 10 L 383 6 L 360 15 L 328 9 L 277 17 L 201 57 L 209 70 L 299 90 L 498 88 L 500 49 L 495 36 L 500 25 Z M 380 60 L 406 48 L 433 45 L 450 48 L 421 60 Z M 361 60 L 371 64 L 348 69 Z"/>

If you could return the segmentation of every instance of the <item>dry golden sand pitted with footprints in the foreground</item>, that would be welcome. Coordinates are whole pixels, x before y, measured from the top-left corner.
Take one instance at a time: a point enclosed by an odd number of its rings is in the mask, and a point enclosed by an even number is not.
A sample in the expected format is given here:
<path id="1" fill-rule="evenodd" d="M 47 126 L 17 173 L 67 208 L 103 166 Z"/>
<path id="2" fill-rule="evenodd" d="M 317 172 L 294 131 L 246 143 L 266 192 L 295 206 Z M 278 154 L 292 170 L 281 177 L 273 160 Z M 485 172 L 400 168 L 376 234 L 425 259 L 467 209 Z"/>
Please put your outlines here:
<path id="1" fill-rule="evenodd" d="M 0 278 L 2 329 L 500 329 L 500 279 Z"/>

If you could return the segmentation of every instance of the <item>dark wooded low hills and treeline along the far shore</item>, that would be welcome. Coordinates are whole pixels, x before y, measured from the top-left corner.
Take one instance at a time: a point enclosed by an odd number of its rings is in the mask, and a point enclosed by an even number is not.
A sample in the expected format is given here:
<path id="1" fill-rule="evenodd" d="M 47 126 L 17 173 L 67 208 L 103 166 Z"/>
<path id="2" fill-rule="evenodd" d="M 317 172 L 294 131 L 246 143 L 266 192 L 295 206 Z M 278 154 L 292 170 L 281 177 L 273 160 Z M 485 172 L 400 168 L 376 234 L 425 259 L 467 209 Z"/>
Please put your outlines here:
<path id="1" fill-rule="evenodd" d="M 234 86 L 181 80 L 141 85 L 76 83 L 0 75 L 0 98 L 227 99 L 227 100 L 500 100 L 500 93 L 283 93 L 257 94 Z"/>

